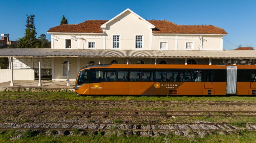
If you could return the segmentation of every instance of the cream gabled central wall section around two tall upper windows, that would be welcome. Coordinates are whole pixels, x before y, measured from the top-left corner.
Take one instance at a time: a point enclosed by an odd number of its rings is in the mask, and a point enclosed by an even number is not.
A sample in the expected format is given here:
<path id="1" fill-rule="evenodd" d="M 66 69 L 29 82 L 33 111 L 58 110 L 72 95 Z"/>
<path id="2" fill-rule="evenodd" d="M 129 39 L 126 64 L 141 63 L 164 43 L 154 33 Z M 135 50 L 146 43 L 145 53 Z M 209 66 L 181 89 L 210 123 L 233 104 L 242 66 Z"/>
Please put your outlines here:
<path id="1" fill-rule="evenodd" d="M 126 12 L 106 25 L 106 49 L 113 49 L 113 35 L 120 35 L 121 49 L 135 49 L 135 36 L 143 36 L 144 50 L 150 48 L 150 26 L 131 12 Z M 122 40 L 123 39 L 123 40 Z"/>

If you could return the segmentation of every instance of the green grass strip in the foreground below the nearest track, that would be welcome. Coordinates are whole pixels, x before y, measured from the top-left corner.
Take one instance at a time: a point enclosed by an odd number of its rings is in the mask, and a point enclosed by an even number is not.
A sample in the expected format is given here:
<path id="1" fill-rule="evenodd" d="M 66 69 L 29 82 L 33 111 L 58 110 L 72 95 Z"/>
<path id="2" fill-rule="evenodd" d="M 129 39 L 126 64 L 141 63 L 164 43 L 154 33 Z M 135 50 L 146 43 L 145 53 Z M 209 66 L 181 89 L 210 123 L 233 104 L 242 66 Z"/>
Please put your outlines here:
<path id="1" fill-rule="evenodd" d="M 46 135 L 34 135 L 34 136 L 26 136 L 21 137 L 17 140 L 11 140 L 12 132 L 8 131 L 6 133 L 0 134 L 0 142 L 8 142 L 8 143 L 162 143 L 162 142 L 172 142 L 172 143 L 254 143 L 256 140 L 255 132 L 246 132 L 241 131 L 241 135 L 230 134 L 230 135 L 206 135 L 203 138 L 199 136 L 195 136 L 194 139 L 190 139 L 184 136 L 176 136 L 173 133 L 171 135 L 162 135 L 157 137 L 145 137 L 145 136 L 117 136 L 116 134 L 111 135 L 73 135 L 73 136 L 46 136 Z"/>

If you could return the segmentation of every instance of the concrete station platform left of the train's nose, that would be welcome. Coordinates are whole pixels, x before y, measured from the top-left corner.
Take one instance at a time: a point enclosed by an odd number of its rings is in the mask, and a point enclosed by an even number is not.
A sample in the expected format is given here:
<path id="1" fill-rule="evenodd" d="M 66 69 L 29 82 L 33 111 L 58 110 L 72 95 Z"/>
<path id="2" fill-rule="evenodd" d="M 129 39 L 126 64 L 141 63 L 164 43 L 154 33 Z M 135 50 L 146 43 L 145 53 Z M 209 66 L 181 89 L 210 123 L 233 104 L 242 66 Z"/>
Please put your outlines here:
<path id="1" fill-rule="evenodd" d="M 14 86 L 10 86 L 9 82 L 0 83 L 0 91 L 18 91 L 18 92 L 74 92 L 75 81 L 70 81 L 70 86 L 67 87 L 67 81 L 52 81 L 42 80 L 42 86 L 38 87 L 38 80 L 36 81 L 21 81 L 15 80 Z"/>

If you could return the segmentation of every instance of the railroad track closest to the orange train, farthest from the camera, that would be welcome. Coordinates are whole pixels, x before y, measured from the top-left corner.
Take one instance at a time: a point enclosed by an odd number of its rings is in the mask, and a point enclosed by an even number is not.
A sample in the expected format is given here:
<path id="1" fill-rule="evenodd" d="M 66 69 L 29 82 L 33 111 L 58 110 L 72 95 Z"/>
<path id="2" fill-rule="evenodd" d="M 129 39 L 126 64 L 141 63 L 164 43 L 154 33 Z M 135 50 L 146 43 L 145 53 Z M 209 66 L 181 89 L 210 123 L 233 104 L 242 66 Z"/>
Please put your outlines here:
<path id="1" fill-rule="evenodd" d="M 87 101 L 87 100 L 0 100 L 0 104 L 57 104 L 57 105 L 247 105 L 255 106 L 256 101 Z"/>

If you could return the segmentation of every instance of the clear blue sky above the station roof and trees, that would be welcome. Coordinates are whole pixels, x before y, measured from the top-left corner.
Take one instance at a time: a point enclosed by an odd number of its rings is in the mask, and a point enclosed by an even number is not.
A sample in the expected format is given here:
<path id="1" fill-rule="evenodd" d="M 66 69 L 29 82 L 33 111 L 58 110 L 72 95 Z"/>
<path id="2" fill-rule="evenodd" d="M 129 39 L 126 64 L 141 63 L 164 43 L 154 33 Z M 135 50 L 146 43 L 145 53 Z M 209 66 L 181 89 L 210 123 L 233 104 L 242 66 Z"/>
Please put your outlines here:
<path id="1" fill-rule="evenodd" d="M 25 33 L 26 14 L 34 14 L 37 36 L 58 26 L 62 15 L 69 24 L 86 20 L 109 20 L 126 8 L 144 19 L 168 20 L 180 25 L 215 25 L 225 29 L 224 49 L 235 45 L 256 47 L 256 0 L 94 0 L 94 1 L 27 1 L 0 0 L 0 33 L 16 40 Z M 230 41 L 227 42 L 226 40 Z"/>

